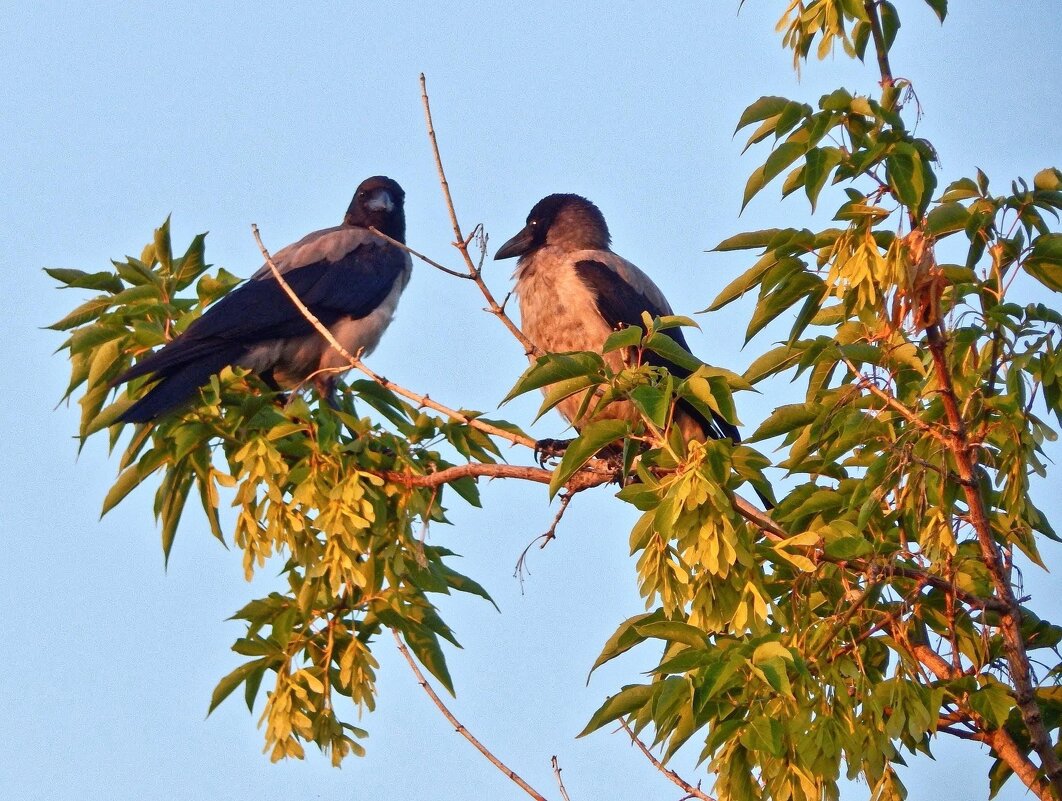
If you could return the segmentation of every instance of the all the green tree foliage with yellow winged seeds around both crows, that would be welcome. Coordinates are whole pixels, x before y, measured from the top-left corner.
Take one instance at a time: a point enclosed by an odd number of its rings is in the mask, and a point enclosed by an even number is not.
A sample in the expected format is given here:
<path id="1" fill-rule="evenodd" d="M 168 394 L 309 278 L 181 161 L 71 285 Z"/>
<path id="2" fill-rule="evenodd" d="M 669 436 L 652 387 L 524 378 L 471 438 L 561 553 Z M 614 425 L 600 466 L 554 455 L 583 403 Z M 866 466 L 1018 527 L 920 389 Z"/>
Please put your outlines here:
<path id="1" fill-rule="evenodd" d="M 946 0 L 926 4 L 943 22 Z M 842 774 L 863 778 L 874 799 L 903 798 L 894 766 L 941 735 L 991 749 L 993 795 L 1012 776 L 1040 798 L 1062 795 L 1062 628 L 1017 597 L 1014 564 L 1043 567 L 1043 539 L 1059 540 L 1030 476 L 1046 475 L 1051 416 L 1062 423 L 1062 313 L 1013 300 L 1028 278 L 1045 301 L 1062 291 L 1062 173 L 1000 192 L 978 170 L 939 187 L 936 152 L 910 125 L 911 84 L 889 65 L 900 24 L 886 0 L 792 0 L 778 29 L 794 64 L 840 45 L 873 57 L 879 91 L 838 89 L 813 105 L 765 97 L 738 120 L 748 147 L 768 149 L 742 205 L 778 181 L 812 209 L 843 192 L 827 227 L 746 232 L 716 249 L 749 252 L 750 266 L 708 310 L 755 292 L 747 341 L 785 319 L 784 341 L 737 375 L 661 335 L 691 321 L 647 318 L 605 344 L 628 354 L 623 370 L 601 354 L 546 354 L 510 395 L 545 390 L 539 413 L 573 395 L 590 412 L 616 399 L 638 410 L 633 423 L 587 425 L 546 477 L 566 499 L 615 478 L 618 499 L 641 513 L 630 549 L 647 611 L 594 668 L 639 646 L 660 659 L 583 733 L 622 720 L 665 762 L 696 748 L 720 799 L 836 799 Z M 114 421 L 143 386 L 108 402 L 109 382 L 235 284 L 209 272 L 203 249 L 196 237 L 175 257 L 167 222 L 140 258 L 50 271 L 98 292 L 52 326 L 69 331 L 66 396 L 82 407 L 82 441 L 106 431 L 122 443 L 104 511 L 157 481 L 168 555 L 192 495 L 226 540 L 224 497 L 247 575 L 284 560 L 287 592 L 235 615 L 246 662 L 210 709 L 241 686 L 254 706 L 269 677 L 273 759 L 313 742 L 338 764 L 362 752 L 364 732 L 345 718 L 374 706 L 376 636 L 400 634 L 452 692 L 442 641 L 457 640 L 432 594 L 489 599 L 424 542 L 425 527 L 446 521 L 455 496 L 478 505 L 475 475 L 543 479 L 498 463 L 499 433 L 527 440 L 515 426 L 429 413 L 372 377 L 349 382 L 332 410 L 297 394 L 280 404 L 226 370 L 192 408 L 123 439 Z M 644 363 L 646 352 L 691 373 Z M 775 377 L 804 395 L 746 443 L 687 442 L 671 425 L 679 402 L 737 423 L 732 393 Z M 778 458 L 753 447 L 780 438 Z M 619 459 L 596 456 L 611 444 Z M 769 493 L 769 468 L 792 483 L 763 513 L 735 492 Z"/>

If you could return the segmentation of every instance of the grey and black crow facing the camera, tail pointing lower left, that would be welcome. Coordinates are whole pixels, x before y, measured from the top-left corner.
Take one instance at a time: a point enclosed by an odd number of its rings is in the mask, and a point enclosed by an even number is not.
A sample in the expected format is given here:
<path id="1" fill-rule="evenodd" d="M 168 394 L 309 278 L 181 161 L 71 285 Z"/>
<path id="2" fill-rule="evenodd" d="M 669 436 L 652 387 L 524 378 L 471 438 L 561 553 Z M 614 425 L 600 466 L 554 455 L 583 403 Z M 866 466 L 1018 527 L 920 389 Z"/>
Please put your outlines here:
<path id="1" fill-rule="evenodd" d="M 315 231 L 273 255 L 285 280 L 350 353 L 376 346 L 409 282 L 409 254 L 370 231 L 375 227 L 405 242 L 405 198 L 391 178 L 366 178 L 341 225 Z M 330 402 L 336 369 L 346 362 L 313 329 L 267 265 L 115 380 L 118 385 L 148 374 L 157 379 L 121 420 L 153 420 L 230 364 L 253 370 L 277 390 L 311 379 Z"/>

